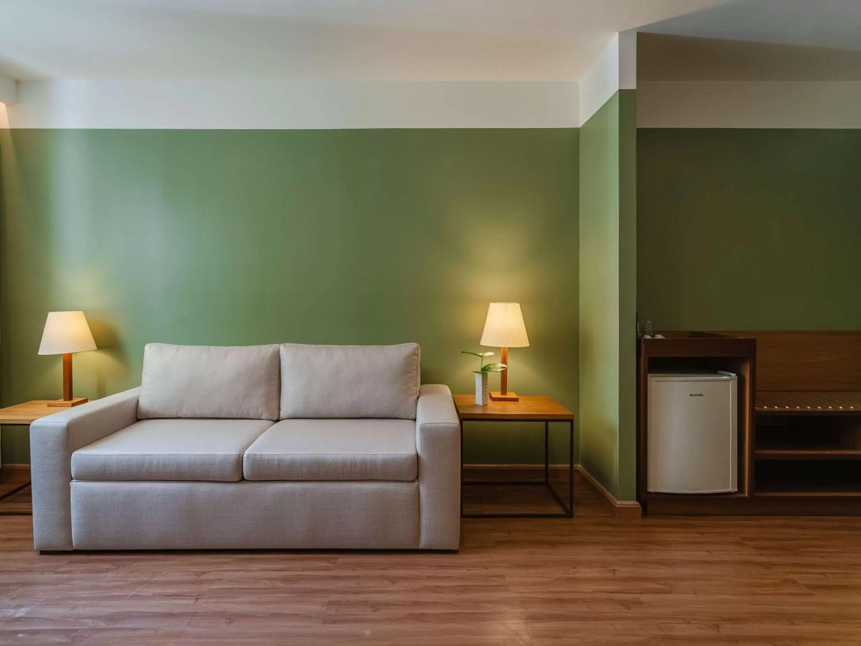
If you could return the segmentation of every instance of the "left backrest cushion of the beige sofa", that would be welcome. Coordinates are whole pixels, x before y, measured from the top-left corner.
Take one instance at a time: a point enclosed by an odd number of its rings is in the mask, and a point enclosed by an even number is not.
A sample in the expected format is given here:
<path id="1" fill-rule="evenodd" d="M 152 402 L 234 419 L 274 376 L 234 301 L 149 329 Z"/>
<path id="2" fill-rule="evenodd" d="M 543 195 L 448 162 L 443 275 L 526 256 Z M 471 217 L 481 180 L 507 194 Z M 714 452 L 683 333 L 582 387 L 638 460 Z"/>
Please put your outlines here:
<path id="1" fill-rule="evenodd" d="M 138 419 L 278 419 L 277 345 L 144 348 Z"/>

